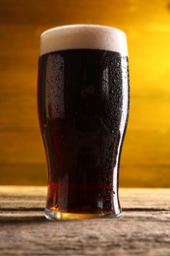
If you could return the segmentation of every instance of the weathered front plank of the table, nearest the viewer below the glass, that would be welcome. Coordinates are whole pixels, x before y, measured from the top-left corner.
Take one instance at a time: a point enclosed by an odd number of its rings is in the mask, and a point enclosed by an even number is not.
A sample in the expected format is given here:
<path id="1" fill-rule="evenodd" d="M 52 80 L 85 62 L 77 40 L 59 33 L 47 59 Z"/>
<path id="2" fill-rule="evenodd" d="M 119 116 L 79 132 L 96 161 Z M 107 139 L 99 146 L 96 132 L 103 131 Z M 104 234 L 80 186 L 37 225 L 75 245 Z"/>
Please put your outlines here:
<path id="1" fill-rule="evenodd" d="M 169 233 L 169 222 L 144 218 L 53 224 L 37 217 L 1 223 L 0 249 L 3 255 L 169 256 Z"/>

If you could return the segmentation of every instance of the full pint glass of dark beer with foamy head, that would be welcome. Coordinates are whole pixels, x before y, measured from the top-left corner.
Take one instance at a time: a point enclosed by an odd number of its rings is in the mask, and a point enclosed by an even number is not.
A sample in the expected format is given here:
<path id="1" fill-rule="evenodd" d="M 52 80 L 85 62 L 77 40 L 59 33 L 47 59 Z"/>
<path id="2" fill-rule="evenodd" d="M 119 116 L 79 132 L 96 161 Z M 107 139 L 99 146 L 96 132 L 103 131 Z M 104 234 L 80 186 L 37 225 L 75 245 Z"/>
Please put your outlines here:
<path id="1" fill-rule="evenodd" d="M 129 112 L 126 34 L 71 25 L 41 34 L 38 116 L 47 219 L 121 216 L 119 162 Z"/>

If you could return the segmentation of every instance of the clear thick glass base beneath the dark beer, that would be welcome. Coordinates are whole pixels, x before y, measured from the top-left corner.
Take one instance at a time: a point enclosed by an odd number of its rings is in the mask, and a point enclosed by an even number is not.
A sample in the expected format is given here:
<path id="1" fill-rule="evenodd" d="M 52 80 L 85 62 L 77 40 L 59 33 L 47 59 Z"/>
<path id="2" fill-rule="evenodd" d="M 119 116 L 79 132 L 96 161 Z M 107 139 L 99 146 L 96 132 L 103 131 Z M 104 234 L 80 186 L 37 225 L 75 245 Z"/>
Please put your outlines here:
<path id="1" fill-rule="evenodd" d="M 81 220 L 81 219 L 114 219 L 121 217 L 122 213 L 114 214 L 113 212 L 102 214 L 74 214 L 74 213 L 61 213 L 45 209 L 45 217 L 50 221 L 62 220 Z"/>

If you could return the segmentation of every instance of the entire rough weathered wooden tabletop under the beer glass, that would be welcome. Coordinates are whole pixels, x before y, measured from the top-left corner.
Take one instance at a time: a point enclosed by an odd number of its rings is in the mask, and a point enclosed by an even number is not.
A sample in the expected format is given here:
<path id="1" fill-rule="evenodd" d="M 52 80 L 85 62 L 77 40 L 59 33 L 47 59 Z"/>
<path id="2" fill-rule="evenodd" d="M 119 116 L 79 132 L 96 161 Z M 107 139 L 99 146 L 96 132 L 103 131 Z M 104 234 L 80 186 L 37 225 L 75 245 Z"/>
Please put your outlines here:
<path id="1" fill-rule="evenodd" d="M 0 255 L 170 255 L 170 189 L 120 189 L 117 220 L 46 221 L 45 197 L 0 186 Z"/>

